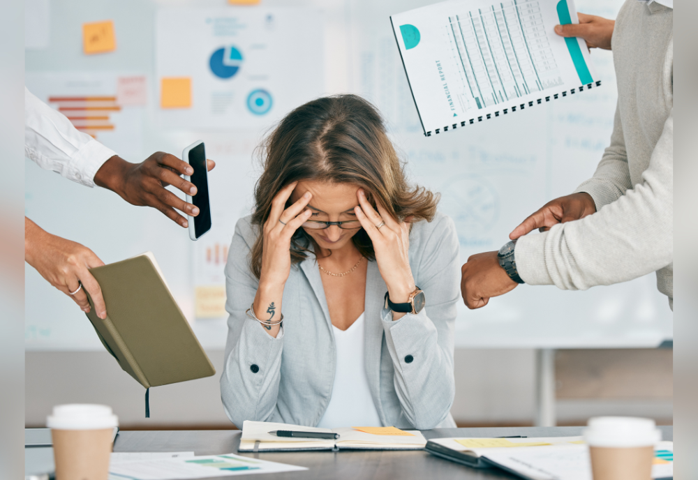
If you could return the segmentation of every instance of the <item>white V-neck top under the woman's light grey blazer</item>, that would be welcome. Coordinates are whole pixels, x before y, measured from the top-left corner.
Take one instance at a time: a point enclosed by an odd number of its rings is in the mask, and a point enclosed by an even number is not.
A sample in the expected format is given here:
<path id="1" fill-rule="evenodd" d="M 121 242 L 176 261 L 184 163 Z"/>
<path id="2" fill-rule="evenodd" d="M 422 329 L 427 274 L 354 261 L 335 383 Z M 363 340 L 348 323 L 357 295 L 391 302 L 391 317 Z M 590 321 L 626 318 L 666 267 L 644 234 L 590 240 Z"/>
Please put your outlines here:
<path id="1" fill-rule="evenodd" d="M 364 314 L 345 331 L 332 325 L 337 366 L 332 397 L 318 427 L 380 427 L 364 368 Z"/>

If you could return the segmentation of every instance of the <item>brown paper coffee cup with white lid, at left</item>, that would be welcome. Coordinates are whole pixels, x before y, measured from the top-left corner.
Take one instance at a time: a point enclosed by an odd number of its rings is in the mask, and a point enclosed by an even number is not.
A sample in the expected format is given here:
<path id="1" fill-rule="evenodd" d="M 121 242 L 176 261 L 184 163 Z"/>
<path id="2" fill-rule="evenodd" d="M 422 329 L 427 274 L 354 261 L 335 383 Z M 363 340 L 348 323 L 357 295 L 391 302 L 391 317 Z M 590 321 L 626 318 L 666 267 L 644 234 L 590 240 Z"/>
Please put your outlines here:
<path id="1" fill-rule="evenodd" d="M 51 428 L 57 480 L 107 480 L 117 416 L 105 405 L 57 405 Z"/>

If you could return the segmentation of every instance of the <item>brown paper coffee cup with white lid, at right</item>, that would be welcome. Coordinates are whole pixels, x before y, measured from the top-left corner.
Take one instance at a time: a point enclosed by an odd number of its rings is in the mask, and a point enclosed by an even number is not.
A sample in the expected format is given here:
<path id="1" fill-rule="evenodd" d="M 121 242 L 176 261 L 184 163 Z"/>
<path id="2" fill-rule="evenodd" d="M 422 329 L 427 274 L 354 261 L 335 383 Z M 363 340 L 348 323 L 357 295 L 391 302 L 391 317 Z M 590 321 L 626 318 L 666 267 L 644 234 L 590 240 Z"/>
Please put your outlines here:
<path id="1" fill-rule="evenodd" d="M 584 429 L 594 480 L 651 480 L 662 433 L 651 419 L 595 417 Z"/>

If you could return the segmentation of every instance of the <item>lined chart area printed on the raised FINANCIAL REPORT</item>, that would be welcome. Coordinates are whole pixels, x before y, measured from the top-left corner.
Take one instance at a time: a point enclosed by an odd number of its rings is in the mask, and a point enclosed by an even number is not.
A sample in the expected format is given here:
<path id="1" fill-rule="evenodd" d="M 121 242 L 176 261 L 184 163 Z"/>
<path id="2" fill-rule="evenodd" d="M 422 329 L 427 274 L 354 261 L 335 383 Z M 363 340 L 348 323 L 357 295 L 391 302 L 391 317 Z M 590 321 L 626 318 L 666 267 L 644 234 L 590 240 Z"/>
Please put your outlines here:
<path id="1" fill-rule="evenodd" d="M 460 76 L 463 110 L 563 84 L 537 1 L 497 3 L 448 20 L 445 41 Z"/>

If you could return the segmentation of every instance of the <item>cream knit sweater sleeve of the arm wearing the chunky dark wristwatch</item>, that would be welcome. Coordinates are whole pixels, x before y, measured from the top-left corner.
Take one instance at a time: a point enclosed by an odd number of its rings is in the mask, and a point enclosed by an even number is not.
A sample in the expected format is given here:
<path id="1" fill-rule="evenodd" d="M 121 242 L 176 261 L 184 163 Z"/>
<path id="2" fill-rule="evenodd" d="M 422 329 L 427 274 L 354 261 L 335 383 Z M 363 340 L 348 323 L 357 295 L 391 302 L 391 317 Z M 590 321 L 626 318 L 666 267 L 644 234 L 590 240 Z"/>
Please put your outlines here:
<path id="1" fill-rule="evenodd" d="M 612 174 L 593 188 L 603 195 L 620 189 Z M 599 171 L 597 171 L 597 174 Z M 614 193 L 614 188 L 616 193 Z M 664 123 L 642 181 L 597 213 L 548 232 L 521 237 L 516 247 L 521 278 L 531 285 L 554 284 L 564 290 L 611 285 L 661 269 L 674 255 L 674 117 Z M 598 202 L 597 197 L 595 201 Z"/>

